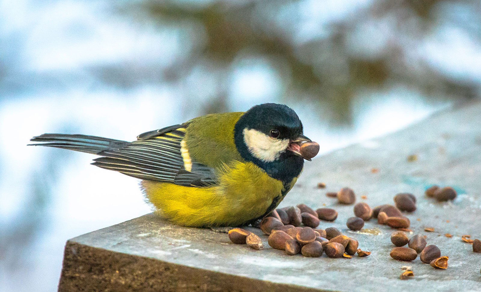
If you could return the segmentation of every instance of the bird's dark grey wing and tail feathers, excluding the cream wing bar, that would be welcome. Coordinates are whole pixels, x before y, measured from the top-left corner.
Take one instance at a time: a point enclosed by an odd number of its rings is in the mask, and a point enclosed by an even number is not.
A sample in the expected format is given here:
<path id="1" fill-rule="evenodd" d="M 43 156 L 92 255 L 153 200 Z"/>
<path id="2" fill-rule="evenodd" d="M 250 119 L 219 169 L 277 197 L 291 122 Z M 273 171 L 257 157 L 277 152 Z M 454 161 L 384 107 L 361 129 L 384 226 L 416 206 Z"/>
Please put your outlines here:
<path id="1" fill-rule="evenodd" d="M 181 141 L 187 124 L 165 127 L 140 134 L 127 142 L 78 134 L 43 134 L 30 141 L 33 146 L 50 146 L 100 155 L 92 165 L 139 179 L 174 183 L 180 186 L 213 186 L 214 170 L 192 161 L 191 171 L 184 168 Z"/>

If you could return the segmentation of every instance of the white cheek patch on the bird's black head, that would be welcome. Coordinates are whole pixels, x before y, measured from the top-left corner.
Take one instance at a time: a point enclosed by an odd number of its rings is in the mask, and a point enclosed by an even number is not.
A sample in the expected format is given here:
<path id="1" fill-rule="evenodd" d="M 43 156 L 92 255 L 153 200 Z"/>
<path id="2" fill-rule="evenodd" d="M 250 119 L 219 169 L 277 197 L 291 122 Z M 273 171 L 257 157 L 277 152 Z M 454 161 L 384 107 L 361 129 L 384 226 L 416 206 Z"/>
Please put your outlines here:
<path id="1" fill-rule="evenodd" d="M 279 158 L 289 146 L 289 139 L 272 138 L 254 129 L 244 129 L 244 142 L 252 155 L 265 162 L 272 162 Z"/>

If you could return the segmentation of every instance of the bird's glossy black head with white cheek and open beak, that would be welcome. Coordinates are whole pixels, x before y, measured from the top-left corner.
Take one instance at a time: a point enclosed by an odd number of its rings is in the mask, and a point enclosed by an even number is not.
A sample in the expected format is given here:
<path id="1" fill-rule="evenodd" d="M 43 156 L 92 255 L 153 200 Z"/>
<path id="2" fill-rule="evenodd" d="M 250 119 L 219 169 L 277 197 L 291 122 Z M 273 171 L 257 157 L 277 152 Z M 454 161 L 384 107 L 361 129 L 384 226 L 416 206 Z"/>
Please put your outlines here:
<path id="1" fill-rule="evenodd" d="M 241 116 L 234 127 L 234 141 L 243 159 L 290 183 L 304 166 L 300 143 L 310 140 L 293 109 L 269 103 L 253 106 Z"/>

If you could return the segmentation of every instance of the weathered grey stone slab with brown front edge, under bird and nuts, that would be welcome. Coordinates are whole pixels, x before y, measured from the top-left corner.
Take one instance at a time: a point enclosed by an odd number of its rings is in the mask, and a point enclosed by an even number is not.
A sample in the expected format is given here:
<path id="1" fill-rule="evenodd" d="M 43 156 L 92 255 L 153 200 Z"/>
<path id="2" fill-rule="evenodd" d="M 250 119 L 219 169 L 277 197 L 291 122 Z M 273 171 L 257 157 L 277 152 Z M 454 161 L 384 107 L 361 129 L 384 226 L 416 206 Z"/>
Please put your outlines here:
<path id="1" fill-rule="evenodd" d="M 417 160 L 409 162 L 409 155 Z M 327 187 L 316 188 L 318 182 Z M 453 186 L 458 197 L 445 203 L 425 197 L 424 190 L 433 184 Z M 407 214 L 411 236 L 426 235 L 428 244 L 449 256 L 448 269 L 436 270 L 419 258 L 391 259 L 394 230 L 374 220 L 365 228 L 378 230 L 378 235 L 348 230 L 345 222 L 353 216 L 353 205 L 340 205 L 325 195 L 343 186 L 353 188 L 357 202 L 371 207 L 393 203 L 399 192 L 415 194 L 418 209 Z M 472 252 L 460 237 L 481 239 L 481 103 L 458 106 L 306 163 L 280 207 L 299 203 L 336 209 L 337 220 L 321 222 L 319 228 L 337 227 L 372 254 L 352 259 L 288 256 L 270 248 L 267 236 L 261 236 L 266 249 L 255 251 L 232 244 L 227 234 L 174 226 L 147 214 L 67 241 L 59 291 L 479 292 L 481 253 Z M 435 231 L 425 232 L 427 226 Z M 404 265 L 412 267 L 414 279 L 399 279 Z"/>

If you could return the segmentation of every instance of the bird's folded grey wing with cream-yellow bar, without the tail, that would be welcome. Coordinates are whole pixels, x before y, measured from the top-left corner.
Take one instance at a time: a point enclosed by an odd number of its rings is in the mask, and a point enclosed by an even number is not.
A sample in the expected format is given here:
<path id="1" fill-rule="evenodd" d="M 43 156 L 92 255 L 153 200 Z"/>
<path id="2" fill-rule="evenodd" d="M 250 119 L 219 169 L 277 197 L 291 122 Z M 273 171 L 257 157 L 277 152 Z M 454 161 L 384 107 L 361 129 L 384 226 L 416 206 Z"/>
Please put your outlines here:
<path id="1" fill-rule="evenodd" d="M 137 141 L 98 153 L 92 164 L 140 179 L 180 186 L 213 186 L 214 169 L 190 159 L 184 136 L 188 124 L 142 133 Z"/>

